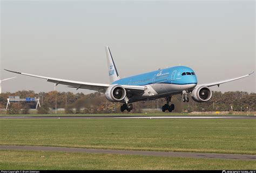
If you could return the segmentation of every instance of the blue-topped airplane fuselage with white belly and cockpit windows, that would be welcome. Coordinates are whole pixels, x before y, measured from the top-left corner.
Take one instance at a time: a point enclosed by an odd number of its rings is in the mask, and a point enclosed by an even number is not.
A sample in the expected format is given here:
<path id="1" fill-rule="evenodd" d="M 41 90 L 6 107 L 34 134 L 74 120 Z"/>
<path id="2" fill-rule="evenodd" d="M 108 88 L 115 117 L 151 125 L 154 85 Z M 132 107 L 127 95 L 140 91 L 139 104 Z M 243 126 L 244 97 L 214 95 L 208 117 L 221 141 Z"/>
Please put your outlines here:
<path id="1" fill-rule="evenodd" d="M 112 85 L 146 86 L 143 94 L 132 95 L 129 99 L 129 102 L 135 102 L 191 91 L 197 86 L 197 76 L 189 67 L 175 66 L 123 78 Z"/>

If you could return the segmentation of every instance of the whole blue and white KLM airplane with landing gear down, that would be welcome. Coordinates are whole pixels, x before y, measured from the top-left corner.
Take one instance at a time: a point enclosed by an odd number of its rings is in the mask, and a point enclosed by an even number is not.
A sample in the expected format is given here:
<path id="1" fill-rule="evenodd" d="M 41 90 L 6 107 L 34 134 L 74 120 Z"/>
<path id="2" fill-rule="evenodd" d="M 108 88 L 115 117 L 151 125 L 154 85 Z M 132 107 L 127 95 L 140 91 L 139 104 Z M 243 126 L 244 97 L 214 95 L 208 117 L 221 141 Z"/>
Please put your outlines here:
<path id="1" fill-rule="evenodd" d="M 120 111 L 127 110 L 130 112 L 133 109 L 133 102 L 143 100 L 154 100 L 165 98 L 166 104 L 162 107 L 162 111 L 168 110 L 172 112 L 174 105 L 171 103 L 173 95 L 182 94 L 183 102 L 188 102 L 188 94 L 191 94 L 192 99 L 197 102 L 206 102 L 211 99 L 212 91 L 209 87 L 220 86 L 226 82 L 245 78 L 254 73 L 243 75 L 238 78 L 227 79 L 209 84 L 198 84 L 197 75 L 190 67 L 174 66 L 168 68 L 160 68 L 156 71 L 143 74 L 133 75 L 127 78 L 120 78 L 109 46 L 105 46 L 107 67 L 109 70 L 110 84 L 98 84 L 91 82 L 81 82 L 65 79 L 57 79 L 43 77 L 21 72 L 6 70 L 12 73 L 28 75 L 30 77 L 46 79 L 48 82 L 55 83 L 55 86 L 62 84 L 71 88 L 90 89 L 105 93 L 107 100 L 111 102 L 122 102 Z"/>

